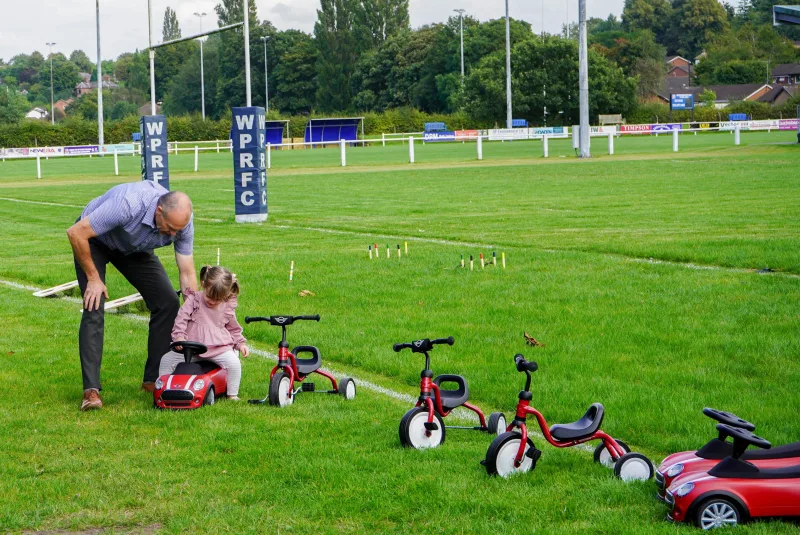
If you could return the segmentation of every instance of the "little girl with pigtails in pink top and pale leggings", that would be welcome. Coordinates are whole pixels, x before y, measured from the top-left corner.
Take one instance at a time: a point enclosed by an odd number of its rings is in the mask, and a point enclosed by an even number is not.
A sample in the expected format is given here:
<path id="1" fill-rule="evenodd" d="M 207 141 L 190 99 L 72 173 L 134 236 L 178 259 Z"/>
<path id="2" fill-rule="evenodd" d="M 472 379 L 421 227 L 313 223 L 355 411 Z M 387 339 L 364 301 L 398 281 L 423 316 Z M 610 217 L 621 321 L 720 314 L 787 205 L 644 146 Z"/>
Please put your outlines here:
<path id="1" fill-rule="evenodd" d="M 200 285 L 201 292 L 185 290 L 183 306 L 172 328 L 172 341 L 192 340 L 207 346 L 208 351 L 195 358 L 211 360 L 228 370 L 228 399 L 238 401 L 242 364 L 236 351 L 242 357 L 250 354 L 242 327 L 236 321 L 239 283 L 224 267 L 203 266 Z M 161 358 L 158 374 L 172 373 L 181 362 L 184 362 L 183 355 L 168 352 Z"/>

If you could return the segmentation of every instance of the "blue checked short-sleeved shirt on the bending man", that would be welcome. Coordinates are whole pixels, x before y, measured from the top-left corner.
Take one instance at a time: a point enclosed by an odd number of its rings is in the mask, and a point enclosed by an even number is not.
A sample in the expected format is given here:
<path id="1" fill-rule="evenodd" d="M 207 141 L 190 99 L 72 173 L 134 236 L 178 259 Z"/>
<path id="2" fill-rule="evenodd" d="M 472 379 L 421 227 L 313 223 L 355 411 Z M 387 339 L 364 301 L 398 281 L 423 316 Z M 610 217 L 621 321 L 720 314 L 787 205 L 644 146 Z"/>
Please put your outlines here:
<path id="1" fill-rule="evenodd" d="M 89 218 L 103 245 L 123 254 L 152 251 L 174 243 L 176 253 L 191 255 L 194 216 L 175 236 L 161 234 L 156 226 L 158 199 L 167 193 L 163 186 L 150 180 L 120 184 L 93 199 L 81 218 Z"/>

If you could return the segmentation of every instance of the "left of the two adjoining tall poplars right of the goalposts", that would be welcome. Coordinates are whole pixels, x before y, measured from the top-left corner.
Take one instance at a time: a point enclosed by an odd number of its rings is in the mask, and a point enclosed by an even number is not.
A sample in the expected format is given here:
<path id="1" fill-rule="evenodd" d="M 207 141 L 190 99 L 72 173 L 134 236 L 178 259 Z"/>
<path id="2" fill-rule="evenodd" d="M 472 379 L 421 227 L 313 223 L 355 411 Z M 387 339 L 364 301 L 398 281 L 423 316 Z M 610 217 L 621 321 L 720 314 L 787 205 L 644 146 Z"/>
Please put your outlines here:
<path id="1" fill-rule="evenodd" d="M 358 0 L 320 0 L 314 37 L 317 43 L 317 107 L 326 112 L 350 107 L 350 76 L 356 64 L 353 32 Z"/>

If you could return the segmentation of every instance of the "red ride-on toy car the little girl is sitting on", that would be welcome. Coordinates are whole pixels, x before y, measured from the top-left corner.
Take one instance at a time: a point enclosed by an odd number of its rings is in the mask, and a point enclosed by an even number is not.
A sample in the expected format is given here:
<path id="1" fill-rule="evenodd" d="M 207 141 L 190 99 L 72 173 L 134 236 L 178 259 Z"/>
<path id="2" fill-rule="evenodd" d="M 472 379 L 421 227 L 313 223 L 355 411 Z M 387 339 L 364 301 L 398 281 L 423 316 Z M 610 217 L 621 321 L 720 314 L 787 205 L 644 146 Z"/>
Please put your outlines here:
<path id="1" fill-rule="evenodd" d="M 199 342 L 173 342 L 170 349 L 183 353 L 181 362 L 170 375 L 156 379 L 153 406 L 159 409 L 196 409 L 213 405 L 228 390 L 228 372 L 210 360 L 197 359 L 208 348 Z"/>

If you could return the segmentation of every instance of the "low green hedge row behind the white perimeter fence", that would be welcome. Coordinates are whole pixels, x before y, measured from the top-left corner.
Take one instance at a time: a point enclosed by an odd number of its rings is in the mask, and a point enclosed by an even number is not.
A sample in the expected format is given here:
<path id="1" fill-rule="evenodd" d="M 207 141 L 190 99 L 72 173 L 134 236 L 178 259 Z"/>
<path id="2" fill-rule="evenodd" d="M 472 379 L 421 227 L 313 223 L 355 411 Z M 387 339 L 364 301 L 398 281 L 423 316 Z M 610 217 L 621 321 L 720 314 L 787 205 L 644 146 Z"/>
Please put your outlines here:
<path id="1" fill-rule="evenodd" d="M 796 117 L 798 99 L 782 106 L 770 106 L 760 102 L 739 102 L 724 110 L 699 107 L 695 110 L 696 121 L 726 120 L 728 113 L 747 113 L 753 119 L 778 119 Z M 319 116 L 320 118 L 324 116 Z M 291 137 L 303 137 L 307 116 L 281 117 L 270 114 L 270 119 L 289 120 Z M 691 112 L 674 112 L 673 122 L 687 122 Z M 626 117 L 628 124 L 649 124 L 670 120 L 669 108 L 666 104 L 643 104 Z M 452 115 L 429 114 L 410 108 L 388 110 L 384 113 L 367 113 L 364 115 L 364 133 L 368 136 L 380 136 L 391 132 L 421 132 L 424 123 L 443 122 L 452 130 L 483 129 L 502 127 L 496 123 L 476 123 L 466 113 Z M 167 135 L 170 141 L 206 141 L 228 139 L 231 127 L 230 119 L 218 121 L 206 120 L 199 115 L 167 118 Z M 104 123 L 106 143 L 125 143 L 131 140 L 131 134 L 139 131 L 139 118 L 127 117 L 120 121 Z M 79 118 L 69 118 L 55 126 L 46 121 L 23 121 L 18 124 L 0 125 L 0 147 L 36 147 L 36 146 L 69 146 L 91 145 L 97 143 L 97 123 Z"/>

